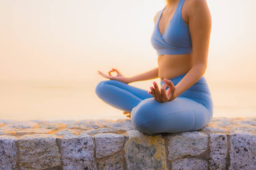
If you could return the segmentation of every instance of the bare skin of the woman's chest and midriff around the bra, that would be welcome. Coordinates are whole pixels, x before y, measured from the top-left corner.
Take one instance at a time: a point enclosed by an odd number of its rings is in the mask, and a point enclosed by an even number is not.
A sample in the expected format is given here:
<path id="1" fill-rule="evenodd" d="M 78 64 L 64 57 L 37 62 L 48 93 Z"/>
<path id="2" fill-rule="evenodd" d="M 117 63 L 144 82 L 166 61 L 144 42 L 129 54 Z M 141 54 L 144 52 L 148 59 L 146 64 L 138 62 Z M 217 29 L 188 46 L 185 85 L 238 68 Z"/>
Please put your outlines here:
<path id="1" fill-rule="evenodd" d="M 178 0 L 179 2 L 179 0 Z M 178 3 L 177 2 L 177 3 Z M 188 4 L 185 0 L 183 3 L 183 7 L 181 8 L 181 16 L 184 21 L 184 23 L 188 26 L 189 22 L 187 19 L 187 10 L 188 10 Z M 168 13 L 162 13 L 161 18 L 159 20 L 159 32 L 161 35 L 166 30 L 166 27 L 168 26 L 171 18 L 174 15 L 174 12 L 177 8 L 177 4 L 174 4 L 174 7 L 172 11 Z M 160 11 L 158 15 L 160 14 Z M 158 16 L 159 17 L 159 16 Z M 176 77 L 178 75 L 182 75 L 184 73 L 187 73 L 191 67 L 192 67 L 192 54 L 164 54 L 158 56 L 158 65 L 159 65 L 159 72 L 158 76 L 161 80 L 163 78 L 171 79 L 173 77 Z"/>

